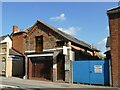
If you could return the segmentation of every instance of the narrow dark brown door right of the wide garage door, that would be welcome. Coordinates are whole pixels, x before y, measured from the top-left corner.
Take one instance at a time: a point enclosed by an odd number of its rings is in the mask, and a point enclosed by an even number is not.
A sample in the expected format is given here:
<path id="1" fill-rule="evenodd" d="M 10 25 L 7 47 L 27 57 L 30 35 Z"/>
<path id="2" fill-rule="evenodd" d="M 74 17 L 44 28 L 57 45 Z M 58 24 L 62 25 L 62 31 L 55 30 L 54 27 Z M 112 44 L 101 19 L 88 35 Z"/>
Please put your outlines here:
<path id="1" fill-rule="evenodd" d="M 57 80 L 65 80 L 65 58 L 62 54 L 57 56 Z"/>

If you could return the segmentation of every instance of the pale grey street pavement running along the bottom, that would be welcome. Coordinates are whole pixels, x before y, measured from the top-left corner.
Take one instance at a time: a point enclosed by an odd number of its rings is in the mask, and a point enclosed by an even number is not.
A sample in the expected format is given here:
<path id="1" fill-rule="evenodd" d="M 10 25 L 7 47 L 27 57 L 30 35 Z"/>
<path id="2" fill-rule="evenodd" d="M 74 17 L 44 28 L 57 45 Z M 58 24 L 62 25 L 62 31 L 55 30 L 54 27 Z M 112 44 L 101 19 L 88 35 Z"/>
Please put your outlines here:
<path id="1" fill-rule="evenodd" d="M 120 88 L 98 85 L 58 83 L 51 81 L 28 80 L 17 77 L 0 77 L 1 90 L 44 90 L 44 89 L 81 89 L 81 90 L 120 90 Z"/>

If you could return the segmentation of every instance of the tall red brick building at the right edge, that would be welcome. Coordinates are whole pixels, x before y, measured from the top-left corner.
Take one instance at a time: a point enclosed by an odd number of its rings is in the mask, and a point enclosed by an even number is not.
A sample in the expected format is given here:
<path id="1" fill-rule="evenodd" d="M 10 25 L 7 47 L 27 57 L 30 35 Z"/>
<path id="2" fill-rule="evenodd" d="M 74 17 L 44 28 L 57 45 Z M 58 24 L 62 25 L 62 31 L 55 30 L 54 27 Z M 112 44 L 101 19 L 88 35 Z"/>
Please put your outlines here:
<path id="1" fill-rule="evenodd" d="M 120 87 L 120 6 L 107 11 L 110 27 L 112 84 Z"/>

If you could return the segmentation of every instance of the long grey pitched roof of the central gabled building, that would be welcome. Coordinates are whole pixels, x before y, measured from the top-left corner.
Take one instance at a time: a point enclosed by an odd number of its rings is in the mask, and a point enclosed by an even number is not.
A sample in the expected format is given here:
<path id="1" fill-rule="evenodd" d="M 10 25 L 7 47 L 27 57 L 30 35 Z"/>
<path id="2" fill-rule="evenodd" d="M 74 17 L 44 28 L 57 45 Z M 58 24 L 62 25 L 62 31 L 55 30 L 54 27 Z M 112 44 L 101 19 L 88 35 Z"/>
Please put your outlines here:
<path id="1" fill-rule="evenodd" d="M 71 36 L 71 35 L 69 35 L 69 34 L 67 34 L 67 33 L 65 33 L 65 32 L 63 32 L 63 31 L 61 31 L 61 30 L 59 30 L 59 29 L 57 29 L 57 28 L 55 28 L 55 27 L 53 27 L 53 26 L 45 23 L 45 22 L 43 22 L 43 21 L 41 21 L 41 20 L 37 20 L 37 22 L 33 26 L 31 26 L 28 29 L 26 29 L 26 31 L 28 32 L 28 34 L 31 32 L 31 29 L 34 28 L 34 26 L 36 24 L 38 24 L 38 23 L 43 24 L 44 26 L 46 26 L 47 28 L 49 28 L 52 31 L 56 32 L 57 34 L 61 35 L 64 39 L 66 39 L 68 41 L 74 42 L 74 43 L 76 43 L 76 44 L 78 44 L 78 45 L 80 45 L 82 47 L 85 47 L 85 48 L 87 48 L 89 50 L 92 50 L 92 51 L 93 50 L 94 51 L 98 51 L 98 52 L 100 51 L 95 46 L 90 45 L 90 44 L 88 44 L 88 43 L 86 43 L 86 42 L 84 42 L 82 40 L 78 40 L 75 37 L 73 37 L 73 36 Z"/>

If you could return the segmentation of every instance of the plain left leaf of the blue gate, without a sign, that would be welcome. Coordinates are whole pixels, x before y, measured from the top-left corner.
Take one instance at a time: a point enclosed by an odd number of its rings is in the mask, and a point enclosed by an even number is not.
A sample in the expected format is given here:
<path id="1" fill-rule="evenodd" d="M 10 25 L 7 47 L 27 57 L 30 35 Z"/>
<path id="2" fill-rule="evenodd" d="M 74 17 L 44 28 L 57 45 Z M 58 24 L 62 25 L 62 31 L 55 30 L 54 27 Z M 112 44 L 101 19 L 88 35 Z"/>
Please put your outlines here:
<path id="1" fill-rule="evenodd" d="M 73 61 L 73 81 L 89 83 L 89 61 Z"/>

